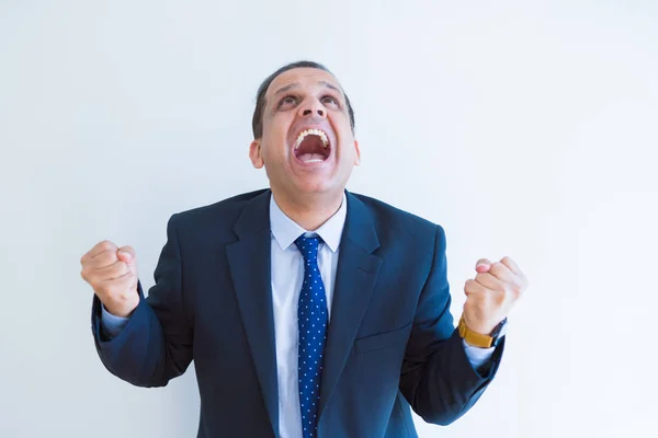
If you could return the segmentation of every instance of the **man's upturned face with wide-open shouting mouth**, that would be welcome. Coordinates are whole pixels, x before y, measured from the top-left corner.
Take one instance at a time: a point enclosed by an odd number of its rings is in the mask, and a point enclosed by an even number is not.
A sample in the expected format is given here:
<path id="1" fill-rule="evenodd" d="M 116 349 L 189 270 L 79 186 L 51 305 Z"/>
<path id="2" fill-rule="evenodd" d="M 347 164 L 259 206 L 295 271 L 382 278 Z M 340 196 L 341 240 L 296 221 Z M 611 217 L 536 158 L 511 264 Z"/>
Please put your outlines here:
<path id="1" fill-rule="evenodd" d="M 336 78 L 292 69 L 274 79 L 265 101 L 263 135 L 249 157 L 254 168 L 265 166 L 272 189 L 290 197 L 342 193 L 360 152 Z"/>

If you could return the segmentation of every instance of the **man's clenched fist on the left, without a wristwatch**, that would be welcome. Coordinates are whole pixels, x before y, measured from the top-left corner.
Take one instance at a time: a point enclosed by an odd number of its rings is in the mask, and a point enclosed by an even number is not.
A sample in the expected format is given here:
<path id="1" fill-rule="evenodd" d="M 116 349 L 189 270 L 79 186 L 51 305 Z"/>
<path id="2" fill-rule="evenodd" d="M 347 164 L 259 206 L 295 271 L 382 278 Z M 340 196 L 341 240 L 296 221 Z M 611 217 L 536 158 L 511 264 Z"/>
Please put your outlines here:
<path id="1" fill-rule="evenodd" d="M 135 250 L 103 241 L 84 254 L 80 264 L 82 278 L 110 313 L 126 318 L 135 310 L 139 303 Z"/>

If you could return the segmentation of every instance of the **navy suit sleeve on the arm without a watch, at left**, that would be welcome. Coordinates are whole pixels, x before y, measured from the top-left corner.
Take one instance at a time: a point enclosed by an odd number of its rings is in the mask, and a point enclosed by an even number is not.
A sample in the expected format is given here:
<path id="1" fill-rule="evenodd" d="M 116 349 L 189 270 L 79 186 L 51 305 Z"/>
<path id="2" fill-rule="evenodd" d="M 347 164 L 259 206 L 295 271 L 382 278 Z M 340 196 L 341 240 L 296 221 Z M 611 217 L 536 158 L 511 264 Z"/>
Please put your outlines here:
<path id="1" fill-rule="evenodd" d="M 138 387 L 163 387 L 192 361 L 192 324 L 183 299 L 175 218 L 167 224 L 167 243 L 154 275 L 156 285 L 145 299 L 138 283 L 139 304 L 116 337 L 109 338 L 102 330 L 101 302 L 93 298 L 92 332 L 103 365 Z"/>

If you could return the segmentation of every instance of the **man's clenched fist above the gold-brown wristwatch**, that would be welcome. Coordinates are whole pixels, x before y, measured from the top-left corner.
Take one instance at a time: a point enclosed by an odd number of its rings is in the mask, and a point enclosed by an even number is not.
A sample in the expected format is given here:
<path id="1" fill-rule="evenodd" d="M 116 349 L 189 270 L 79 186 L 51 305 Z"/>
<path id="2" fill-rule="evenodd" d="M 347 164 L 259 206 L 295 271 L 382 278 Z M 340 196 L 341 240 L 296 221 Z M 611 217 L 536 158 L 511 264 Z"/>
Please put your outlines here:
<path id="1" fill-rule="evenodd" d="M 475 270 L 475 279 L 464 286 L 464 320 L 472 331 L 488 335 L 527 288 L 527 278 L 510 257 L 495 263 L 480 258 Z"/>

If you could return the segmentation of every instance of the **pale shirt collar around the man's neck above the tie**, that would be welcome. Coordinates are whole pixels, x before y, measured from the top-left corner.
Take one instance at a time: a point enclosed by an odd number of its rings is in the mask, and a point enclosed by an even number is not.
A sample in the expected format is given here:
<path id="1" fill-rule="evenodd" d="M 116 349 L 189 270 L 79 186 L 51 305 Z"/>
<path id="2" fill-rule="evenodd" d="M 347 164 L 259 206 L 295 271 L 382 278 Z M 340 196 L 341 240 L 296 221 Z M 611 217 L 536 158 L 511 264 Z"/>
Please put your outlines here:
<path id="1" fill-rule="evenodd" d="M 319 235 L 322 241 L 329 246 L 331 252 L 337 252 L 342 237 L 342 230 L 345 226 L 345 217 L 348 215 L 348 199 L 343 192 L 342 203 L 340 208 L 332 217 L 329 218 L 320 228 L 315 231 L 307 231 L 299 227 L 294 220 L 285 216 L 274 200 L 274 195 L 270 196 L 270 229 L 274 240 L 281 246 L 282 251 L 287 250 L 297 238 L 304 233 L 313 233 Z"/>

